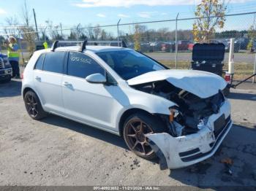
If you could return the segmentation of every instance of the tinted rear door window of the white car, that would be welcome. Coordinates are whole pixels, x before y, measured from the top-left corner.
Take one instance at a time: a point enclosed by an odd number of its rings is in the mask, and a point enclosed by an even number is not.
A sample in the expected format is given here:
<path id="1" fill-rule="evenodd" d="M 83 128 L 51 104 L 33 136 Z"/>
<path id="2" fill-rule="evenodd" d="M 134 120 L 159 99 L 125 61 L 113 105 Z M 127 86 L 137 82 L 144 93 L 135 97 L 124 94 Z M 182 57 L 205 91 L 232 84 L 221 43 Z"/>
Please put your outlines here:
<path id="1" fill-rule="evenodd" d="M 45 54 L 44 71 L 63 74 L 65 52 L 48 52 Z"/>

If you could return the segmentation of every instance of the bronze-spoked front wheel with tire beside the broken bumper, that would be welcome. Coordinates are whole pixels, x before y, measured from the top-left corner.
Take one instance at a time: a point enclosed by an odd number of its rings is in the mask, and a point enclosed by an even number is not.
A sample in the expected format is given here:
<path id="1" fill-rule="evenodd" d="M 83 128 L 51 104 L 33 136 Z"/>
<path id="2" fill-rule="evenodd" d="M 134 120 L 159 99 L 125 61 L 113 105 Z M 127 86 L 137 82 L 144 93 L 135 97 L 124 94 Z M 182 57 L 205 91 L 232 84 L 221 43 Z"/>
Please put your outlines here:
<path id="1" fill-rule="evenodd" d="M 154 155 L 153 149 L 148 144 L 147 134 L 154 133 L 152 128 L 138 118 L 133 118 L 124 127 L 124 139 L 129 149 L 140 157 Z"/>

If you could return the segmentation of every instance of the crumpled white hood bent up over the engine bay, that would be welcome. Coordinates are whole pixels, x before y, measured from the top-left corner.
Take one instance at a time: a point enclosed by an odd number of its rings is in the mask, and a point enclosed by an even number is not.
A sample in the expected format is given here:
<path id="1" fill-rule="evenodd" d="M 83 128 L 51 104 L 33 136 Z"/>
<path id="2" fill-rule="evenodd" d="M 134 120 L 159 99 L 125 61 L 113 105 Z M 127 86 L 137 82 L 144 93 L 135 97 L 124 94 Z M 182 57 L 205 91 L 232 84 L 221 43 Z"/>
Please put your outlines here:
<path id="1" fill-rule="evenodd" d="M 200 98 L 208 98 L 223 90 L 227 82 L 217 74 L 197 70 L 167 69 L 151 71 L 127 80 L 129 85 L 167 80 L 172 85 L 193 93 Z"/>

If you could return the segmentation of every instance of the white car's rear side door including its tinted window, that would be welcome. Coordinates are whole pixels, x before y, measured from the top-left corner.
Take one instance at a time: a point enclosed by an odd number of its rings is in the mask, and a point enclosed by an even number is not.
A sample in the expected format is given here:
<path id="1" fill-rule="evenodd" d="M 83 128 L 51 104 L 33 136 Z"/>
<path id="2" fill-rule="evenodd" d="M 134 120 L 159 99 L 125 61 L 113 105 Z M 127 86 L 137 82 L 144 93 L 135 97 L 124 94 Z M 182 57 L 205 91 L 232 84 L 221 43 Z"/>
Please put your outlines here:
<path id="1" fill-rule="evenodd" d="M 44 109 L 64 113 L 62 77 L 66 52 L 46 52 L 40 55 L 34 68 L 34 83 Z"/>

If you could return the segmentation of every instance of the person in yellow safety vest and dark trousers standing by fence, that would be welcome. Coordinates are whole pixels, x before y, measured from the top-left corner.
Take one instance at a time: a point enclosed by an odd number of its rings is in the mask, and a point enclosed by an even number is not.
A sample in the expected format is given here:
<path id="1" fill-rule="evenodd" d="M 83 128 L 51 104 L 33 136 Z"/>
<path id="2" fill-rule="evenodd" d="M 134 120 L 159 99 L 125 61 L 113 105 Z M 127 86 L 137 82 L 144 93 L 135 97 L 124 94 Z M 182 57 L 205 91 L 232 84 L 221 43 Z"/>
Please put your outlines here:
<path id="1" fill-rule="evenodd" d="M 12 77 L 20 79 L 20 51 L 19 46 L 17 44 L 17 40 L 14 36 L 10 36 L 8 42 L 6 42 L 7 46 L 7 56 L 12 65 Z"/>

